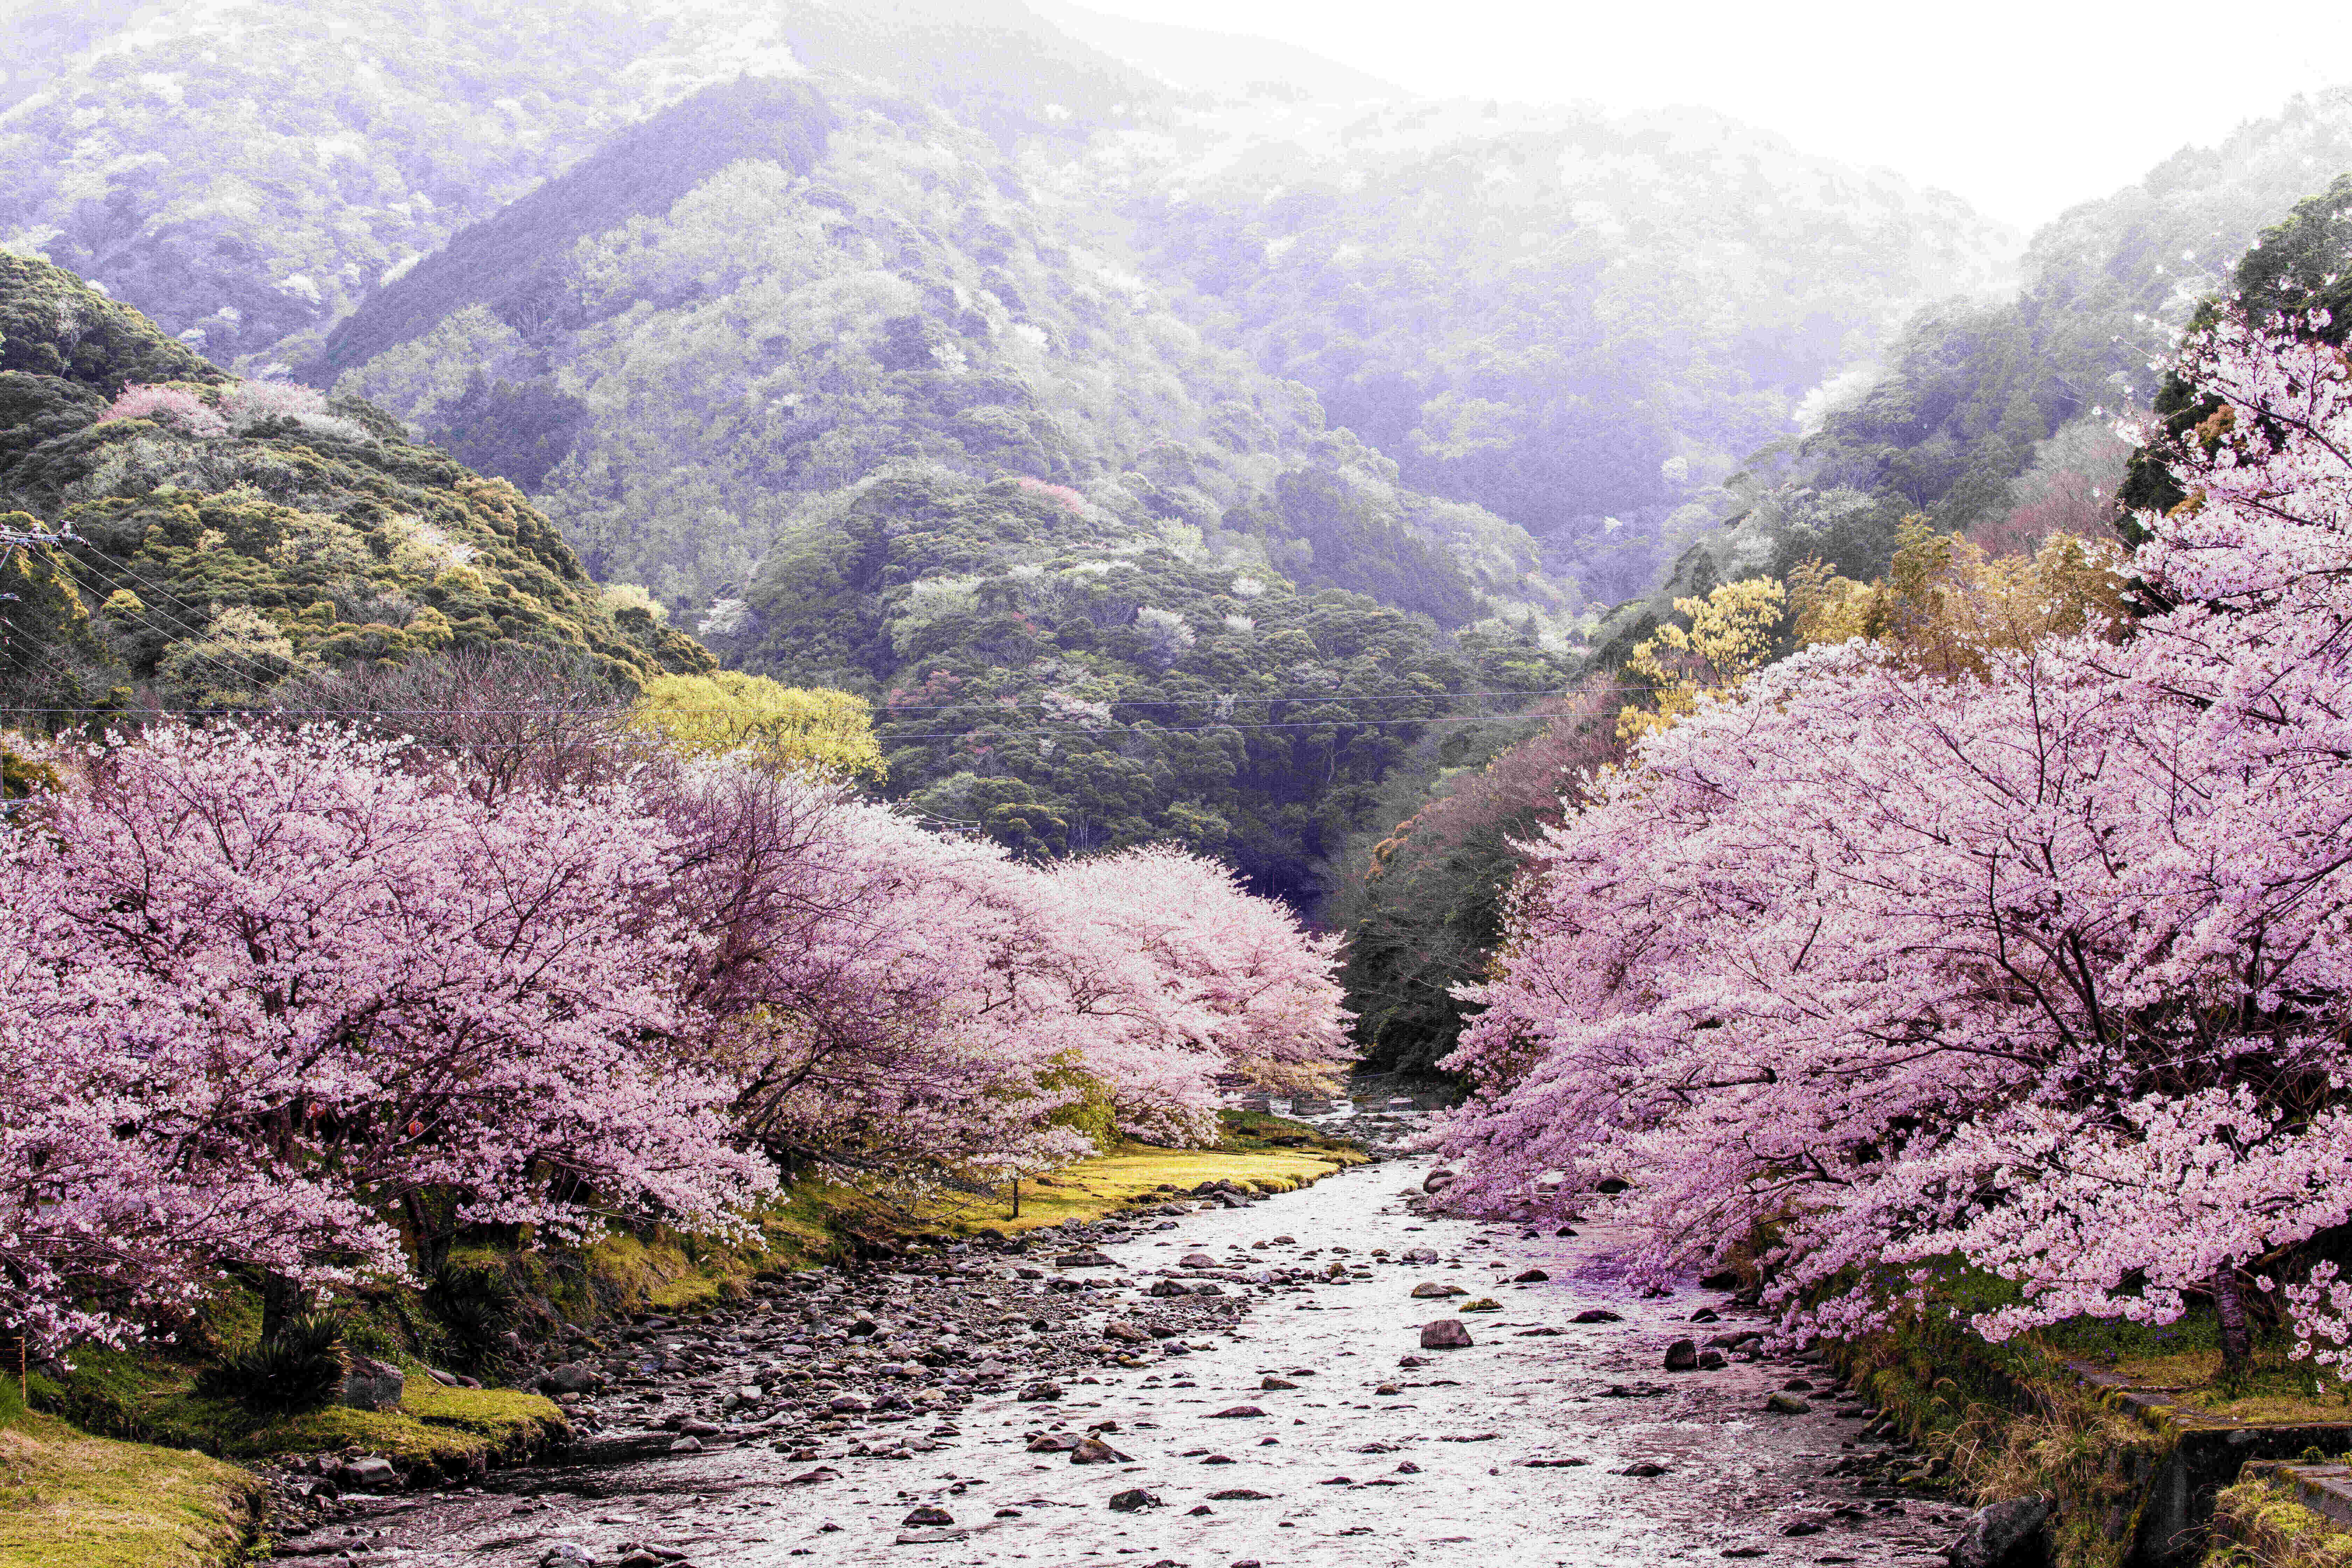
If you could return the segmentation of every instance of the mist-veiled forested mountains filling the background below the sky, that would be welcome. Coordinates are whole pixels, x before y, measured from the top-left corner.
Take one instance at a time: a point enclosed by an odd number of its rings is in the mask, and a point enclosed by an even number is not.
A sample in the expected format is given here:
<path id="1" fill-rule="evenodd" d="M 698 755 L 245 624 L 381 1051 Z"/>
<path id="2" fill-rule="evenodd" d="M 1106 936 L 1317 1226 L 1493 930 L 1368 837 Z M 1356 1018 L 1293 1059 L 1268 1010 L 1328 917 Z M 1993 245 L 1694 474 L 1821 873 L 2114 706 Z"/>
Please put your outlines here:
<path id="1" fill-rule="evenodd" d="M 2296 101 L 2027 240 L 1708 110 L 1423 101 L 1061 0 L 16 35 L 9 252 L 513 482 L 722 663 L 896 693 L 927 809 L 1298 893 L 1397 766 L 1508 738 L 1522 698 L 1463 693 L 1882 571 L 1910 512 L 2110 505 L 2147 360 L 2352 167 L 2352 96 Z M 1174 733 L 1244 696 L 1341 729 Z"/>

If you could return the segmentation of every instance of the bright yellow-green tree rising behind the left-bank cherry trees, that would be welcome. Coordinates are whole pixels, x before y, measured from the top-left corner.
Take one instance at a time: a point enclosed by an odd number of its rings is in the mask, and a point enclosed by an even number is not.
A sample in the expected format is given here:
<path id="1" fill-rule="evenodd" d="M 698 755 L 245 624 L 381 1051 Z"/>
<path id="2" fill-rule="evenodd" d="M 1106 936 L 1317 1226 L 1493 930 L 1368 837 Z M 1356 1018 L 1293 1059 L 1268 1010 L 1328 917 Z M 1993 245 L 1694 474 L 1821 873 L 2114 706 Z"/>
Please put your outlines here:
<path id="1" fill-rule="evenodd" d="M 637 693 L 630 722 L 696 757 L 748 752 L 767 766 L 816 766 L 870 783 L 884 773 L 866 698 L 826 686 L 786 686 L 741 670 L 663 675 Z"/>

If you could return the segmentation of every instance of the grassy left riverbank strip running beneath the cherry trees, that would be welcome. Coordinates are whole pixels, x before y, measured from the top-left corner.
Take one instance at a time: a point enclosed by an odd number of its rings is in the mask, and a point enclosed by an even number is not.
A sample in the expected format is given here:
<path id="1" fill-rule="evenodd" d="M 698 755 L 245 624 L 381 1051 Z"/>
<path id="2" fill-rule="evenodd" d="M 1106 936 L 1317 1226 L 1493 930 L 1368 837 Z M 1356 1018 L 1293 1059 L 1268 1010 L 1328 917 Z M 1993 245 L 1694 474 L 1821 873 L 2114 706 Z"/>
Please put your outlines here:
<path id="1" fill-rule="evenodd" d="M 1305 1124 L 1232 1112 L 1218 1147 L 1124 1145 L 1028 1192 L 1018 1220 L 1009 1197 L 906 1211 L 840 1190 L 800 1190 L 760 1218 L 748 1244 L 710 1246 L 656 1232 L 612 1237 L 586 1253 L 461 1248 L 454 1262 L 485 1293 L 499 1338 L 513 1340 L 485 1356 L 485 1345 L 437 1321 L 419 1293 L 358 1293 L 343 1302 L 348 1342 L 407 1378 L 397 1406 L 383 1410 L 329 1406 L 256 1418 L 233 1401 L 198 1394 L 205 1356 L 195 1345 L 85 1347 L 71 1375 L 31 1378 L 40 1413 L 19 1408 L 19 1425 L 7 1427 L 16 1455 L 7 1474 L 38 1476 L 38 1486 L 24 1483 L 35 1488 L 24 1497 L 38 1495 L 54 1528 L 42 1526 L 47 1533 L 24 1540 L 0 1535 L 0 1568 L 49 1568 L 52 1547 L 61 1552 L 59 1566 L 111 1566 L 115 1559 L 103 1552 L 118 1552 L 122 1563 L 169 1568 L 238 1563 L 263 1490 L 273 1495 L 273 1519 L 285 1526 L 339 1497 L 334 1476 L 346 1462 L 383 1460 L 409 1488 L 524 1465 L 569 1441 L 569 1408 L 581 1396 L 548 1373 L 595 1356 L 607 1340 L 619 1345 L 633 1314 L 637 1321 L 696 1319 L 755 1300 L 762 1276 L 774 1281 L 861 1255 L 924 1258 L 976 1232 L 1089 1222 L 1138 1201 L 1289 1192 L 1364 1159 L 1359 1145 Z M 1197 1199 L 1192 1190 L 1225 1197 Z M 256 1324 L 256 1302 L 230 1293 L 214 1302 L 200 1342 L 219 1354 L 249 1342 Z M 445 1387 L 437 1373 L 452 1366 L 517 1387 Z M 14 1401 L 14 1387 L 7 1399 Z M 209 1458 L 198 1462 L 200 1455 Z"/>

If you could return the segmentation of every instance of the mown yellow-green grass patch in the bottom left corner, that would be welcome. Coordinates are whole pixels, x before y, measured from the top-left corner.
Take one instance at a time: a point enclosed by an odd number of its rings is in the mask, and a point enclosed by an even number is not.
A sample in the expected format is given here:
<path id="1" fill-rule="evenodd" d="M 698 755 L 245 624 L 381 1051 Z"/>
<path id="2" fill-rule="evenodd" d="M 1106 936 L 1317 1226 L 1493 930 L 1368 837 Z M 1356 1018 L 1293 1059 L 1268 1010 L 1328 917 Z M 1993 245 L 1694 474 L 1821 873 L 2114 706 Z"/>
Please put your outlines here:
<path id="1" fill-rule="evenodd" d="M 183 1448 L 118 1443 L 0 1392 L 0 1566 L 214 1568 L 245 1559 L 261 1483 Z"/>

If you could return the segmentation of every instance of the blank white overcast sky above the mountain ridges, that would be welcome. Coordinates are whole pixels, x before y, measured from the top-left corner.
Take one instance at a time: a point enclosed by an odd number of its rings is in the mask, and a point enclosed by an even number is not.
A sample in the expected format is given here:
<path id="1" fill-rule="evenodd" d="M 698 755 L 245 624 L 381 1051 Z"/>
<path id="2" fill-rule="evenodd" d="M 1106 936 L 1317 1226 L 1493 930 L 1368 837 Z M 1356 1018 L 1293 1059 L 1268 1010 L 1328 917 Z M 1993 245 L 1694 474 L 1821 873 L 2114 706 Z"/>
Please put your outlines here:
<path id="1" fill-rule="evenodd" d="M 1705 103 L 2018 226 L 2352 82 L 2352 0 L 1077 2 L 1282 38 L 1442 96 Z"/>

